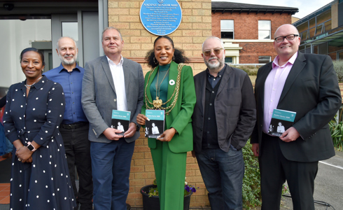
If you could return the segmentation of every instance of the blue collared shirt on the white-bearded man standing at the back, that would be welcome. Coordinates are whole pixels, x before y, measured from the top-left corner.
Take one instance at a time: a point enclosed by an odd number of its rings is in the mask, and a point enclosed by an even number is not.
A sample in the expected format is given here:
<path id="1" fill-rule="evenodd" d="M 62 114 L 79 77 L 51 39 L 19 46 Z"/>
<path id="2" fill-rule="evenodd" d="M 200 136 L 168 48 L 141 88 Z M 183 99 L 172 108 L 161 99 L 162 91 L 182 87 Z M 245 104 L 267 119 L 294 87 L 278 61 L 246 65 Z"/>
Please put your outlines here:
<path id="1" fill-rule="evenodd" d="M 68 72 L 64 67 L 59 65 L 43 73 L 48 79 L 59 83 L 63 87 L 64 97 L 66 98 L 66 109 L 62 124 L 72 124 L 78 122 L 88 122 L 81 105 L 82 79 L 85 69 L 78 66 L 73 71 Z"/>

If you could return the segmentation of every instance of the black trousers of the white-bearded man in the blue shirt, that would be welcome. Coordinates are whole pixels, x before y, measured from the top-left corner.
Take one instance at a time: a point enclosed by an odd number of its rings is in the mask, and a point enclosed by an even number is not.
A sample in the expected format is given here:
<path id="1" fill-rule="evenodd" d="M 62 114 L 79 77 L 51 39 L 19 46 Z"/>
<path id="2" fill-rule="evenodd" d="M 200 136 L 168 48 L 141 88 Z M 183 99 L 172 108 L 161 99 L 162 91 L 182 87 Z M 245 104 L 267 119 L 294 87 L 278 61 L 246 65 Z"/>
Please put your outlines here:
<path id="1" fill-rule="evenodd" d="M 93 198 L 92 163 L 88 130 L 88 123 L 82 127 L 70 130 L 59 127 L 66 151 L 66 162 L 68 162 L 73 192 L 76 197 L 76 203 L 80 204 L 81 210 L 92 209 Z M 79 177 L 78 191 L 75 183 L 75 167 Z"/>

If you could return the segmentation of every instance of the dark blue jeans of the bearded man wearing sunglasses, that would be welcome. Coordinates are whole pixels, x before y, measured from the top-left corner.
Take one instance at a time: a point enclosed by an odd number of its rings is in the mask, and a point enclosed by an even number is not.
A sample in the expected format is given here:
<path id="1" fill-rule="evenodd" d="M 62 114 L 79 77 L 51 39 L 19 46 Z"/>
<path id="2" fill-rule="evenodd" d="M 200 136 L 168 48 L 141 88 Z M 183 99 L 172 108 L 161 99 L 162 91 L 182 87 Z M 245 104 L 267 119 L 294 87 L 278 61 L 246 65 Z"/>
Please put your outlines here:
<path id="1" fill-rule="evenodd" d="M 226 153 L 220 148 L 202 149 L 195 155 L 202 179 L 209 191 L 211 209 L 242 209 L 244 160 L 241 151 L 230 148 Z"/>

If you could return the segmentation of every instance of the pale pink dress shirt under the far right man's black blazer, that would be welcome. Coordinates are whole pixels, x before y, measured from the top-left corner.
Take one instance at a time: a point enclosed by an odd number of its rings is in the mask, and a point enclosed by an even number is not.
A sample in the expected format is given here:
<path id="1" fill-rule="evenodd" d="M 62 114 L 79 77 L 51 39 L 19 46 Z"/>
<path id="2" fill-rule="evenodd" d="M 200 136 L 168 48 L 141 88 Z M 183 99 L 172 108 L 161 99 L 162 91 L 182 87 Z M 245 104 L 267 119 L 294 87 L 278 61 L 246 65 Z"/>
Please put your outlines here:
<path id="1" fill-rule="evenodd" d="M 290 69 L 292 69 L 295 59 L 297 58 L 297 52 L 290 57 L 286 64 L 279 66 L 279 55 L 275 57 L 272 63 L 272 71 L 269 72 L 267 79 L 265 80 L 265 101 L 263 109 L 263 132 L 268 133 L 270 120 L 272 120 L 272 114 L 279 104 L 279 99 L 283 86 Z"/>

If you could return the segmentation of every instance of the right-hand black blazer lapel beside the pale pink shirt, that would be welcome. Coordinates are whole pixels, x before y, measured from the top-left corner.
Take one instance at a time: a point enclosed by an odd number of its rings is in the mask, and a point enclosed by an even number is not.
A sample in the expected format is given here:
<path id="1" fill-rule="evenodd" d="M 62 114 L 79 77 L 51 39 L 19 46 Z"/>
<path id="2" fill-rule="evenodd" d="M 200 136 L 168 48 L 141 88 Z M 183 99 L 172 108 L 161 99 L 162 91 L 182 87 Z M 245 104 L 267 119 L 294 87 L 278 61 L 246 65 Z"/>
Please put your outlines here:
<path id="1" fill-rule="evenodd" d="M 304 69 L 304 66 L 306 65 L 306 62 L 304 62 L 306 59 L 304 57 L 304 54 L 301 52 L 298 52 L 297 58 L 295 59 L 295 62 L 292 66 L 292 69 L 290 69 L 290 72 L 288 74 L 288 77 L 286 78 L 285 85 L 283 86 L 283 90 L 281 92 L 281 96 L 279 99 L 279 104 L 282 101 L 283 97 L 286 96 L 288 90 L 292 86 L 294 80 L 297 78 L 299 73 Z"/>

